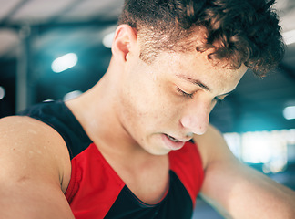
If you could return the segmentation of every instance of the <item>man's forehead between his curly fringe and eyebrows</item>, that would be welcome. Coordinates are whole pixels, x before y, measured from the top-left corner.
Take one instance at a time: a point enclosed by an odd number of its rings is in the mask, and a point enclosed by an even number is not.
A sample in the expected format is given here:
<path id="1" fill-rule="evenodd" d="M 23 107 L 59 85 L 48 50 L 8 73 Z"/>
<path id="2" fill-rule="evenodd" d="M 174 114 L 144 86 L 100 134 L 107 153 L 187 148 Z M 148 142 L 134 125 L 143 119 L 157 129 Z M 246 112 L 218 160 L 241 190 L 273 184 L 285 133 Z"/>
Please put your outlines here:
<path id="1" fill-rule="evenodd" d="M 230 91 L 239 83 L 240 78 L 247 71 L 245 66 L 239 69 L 229 68 L 228 63 L 213 63 L 208 58 L 208 52 L 188 53 L 163 52 L 158 56 L 157 66 L 163 68 L 168 74 L 178 76 L 187 81 L 201 81 L 219 91 Z M 221 90 L 224 89 L 224 90 Z M 213 90 L 214 91 L 214 90 Z"/>

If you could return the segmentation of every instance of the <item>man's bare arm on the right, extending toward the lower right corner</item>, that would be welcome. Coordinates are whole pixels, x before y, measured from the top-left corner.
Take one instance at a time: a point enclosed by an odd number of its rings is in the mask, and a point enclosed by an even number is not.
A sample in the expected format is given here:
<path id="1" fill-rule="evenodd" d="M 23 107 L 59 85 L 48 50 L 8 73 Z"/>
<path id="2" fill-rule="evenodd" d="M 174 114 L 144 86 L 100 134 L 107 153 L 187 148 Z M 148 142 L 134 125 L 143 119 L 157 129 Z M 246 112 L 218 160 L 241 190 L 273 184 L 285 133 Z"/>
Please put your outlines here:
<path id="1" fill-rule="evenodd" d="M 239 162 L 218 130 L 210 127 L 194 140 L 205 171 L 201 193 L 221 214 L 229 213 L 233 218 L 294 218 L 295 193 Z"/>

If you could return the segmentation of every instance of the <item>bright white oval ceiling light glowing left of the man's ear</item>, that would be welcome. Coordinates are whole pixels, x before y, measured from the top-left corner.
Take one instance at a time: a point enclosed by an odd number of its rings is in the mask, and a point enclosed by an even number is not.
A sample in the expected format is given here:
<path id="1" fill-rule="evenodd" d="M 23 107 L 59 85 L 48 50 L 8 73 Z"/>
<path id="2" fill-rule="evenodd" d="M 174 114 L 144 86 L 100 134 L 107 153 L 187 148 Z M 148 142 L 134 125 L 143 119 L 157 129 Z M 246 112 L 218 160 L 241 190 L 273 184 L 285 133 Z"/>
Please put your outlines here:
<path id="1" fill-rule="evenodd" d="M 73 68 L 77 63 L 77 56 L 75 53 L 68 53 L 65 56 L 57 57 L 56 60 L 52 62 L 51 68 L 54 72 L 60 73 L 68 68 Z"/>

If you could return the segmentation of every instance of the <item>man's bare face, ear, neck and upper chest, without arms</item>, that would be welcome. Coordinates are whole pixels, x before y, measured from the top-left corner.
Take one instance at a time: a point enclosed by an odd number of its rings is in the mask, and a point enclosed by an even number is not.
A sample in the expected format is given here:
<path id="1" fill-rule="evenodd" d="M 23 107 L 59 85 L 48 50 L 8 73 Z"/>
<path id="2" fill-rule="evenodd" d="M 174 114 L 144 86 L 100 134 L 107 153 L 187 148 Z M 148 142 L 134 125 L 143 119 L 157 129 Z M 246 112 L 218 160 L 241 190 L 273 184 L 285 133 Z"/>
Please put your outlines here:
<path id="1" fill-rule="evenodd" d="M 137 197 L 157 203 L 168 186 L 166 135 L 189 141 L 191 133 L 204 133 L 216 99 L 235 89 L 247 68 L 220 69 L 197 52 L 162 53 L 147 64 L 139 58 L 136 33 L 125 25 L 117 29 L 112 51 L 97 87 L 66 104 Z"/>

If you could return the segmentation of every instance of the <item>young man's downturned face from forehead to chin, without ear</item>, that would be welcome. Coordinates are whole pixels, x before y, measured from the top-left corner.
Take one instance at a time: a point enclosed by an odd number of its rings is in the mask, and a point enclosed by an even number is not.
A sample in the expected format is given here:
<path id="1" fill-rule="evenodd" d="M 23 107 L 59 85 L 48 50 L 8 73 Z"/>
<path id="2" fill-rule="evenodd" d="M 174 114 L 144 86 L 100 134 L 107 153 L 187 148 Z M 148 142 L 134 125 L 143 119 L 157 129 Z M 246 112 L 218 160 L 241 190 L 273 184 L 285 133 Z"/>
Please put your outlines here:
<path id="1" fill-rule="evenodd" d="M 161 53 L 151 63 L 127 55 L 119 119 L 133 142 L 152 154 L 180 149 L 203 134 L 218 99 L 236 88 L 246 67 L 214 67 L 207 53 Z"/>

